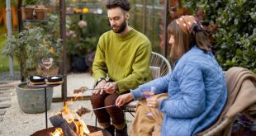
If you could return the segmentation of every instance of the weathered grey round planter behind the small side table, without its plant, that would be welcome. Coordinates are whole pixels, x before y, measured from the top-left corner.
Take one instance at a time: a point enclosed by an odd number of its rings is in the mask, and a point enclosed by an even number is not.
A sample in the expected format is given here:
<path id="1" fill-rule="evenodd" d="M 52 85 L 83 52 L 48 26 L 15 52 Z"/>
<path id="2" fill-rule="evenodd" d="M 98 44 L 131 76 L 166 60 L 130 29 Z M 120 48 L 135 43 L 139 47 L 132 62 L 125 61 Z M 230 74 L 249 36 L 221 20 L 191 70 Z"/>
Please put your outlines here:
<path id="1" fill-rule="evenodd" d="M 21 110 L 28 114 L 45 112 L 45 89 L 26 87 L 27 82 L 21 82 L 16 87 L 17 98 Z M 53 88 L 47 88 L 47 110 L 50 109 Z"/>

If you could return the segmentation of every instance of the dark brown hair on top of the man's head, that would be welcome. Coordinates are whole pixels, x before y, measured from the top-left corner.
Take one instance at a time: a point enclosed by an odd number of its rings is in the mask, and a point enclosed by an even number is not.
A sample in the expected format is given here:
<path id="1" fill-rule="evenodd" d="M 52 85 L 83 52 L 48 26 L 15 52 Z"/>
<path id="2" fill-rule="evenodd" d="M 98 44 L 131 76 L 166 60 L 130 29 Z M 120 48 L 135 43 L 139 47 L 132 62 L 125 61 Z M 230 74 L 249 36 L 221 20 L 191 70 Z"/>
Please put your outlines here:
<path id="1" fill-rule="evenodd" d="M 106 7 L 107 9 L 121 7 L 121 9 L 129 12 L 130 2 L 128 2 L 128 0 L 107 0 Z"/>

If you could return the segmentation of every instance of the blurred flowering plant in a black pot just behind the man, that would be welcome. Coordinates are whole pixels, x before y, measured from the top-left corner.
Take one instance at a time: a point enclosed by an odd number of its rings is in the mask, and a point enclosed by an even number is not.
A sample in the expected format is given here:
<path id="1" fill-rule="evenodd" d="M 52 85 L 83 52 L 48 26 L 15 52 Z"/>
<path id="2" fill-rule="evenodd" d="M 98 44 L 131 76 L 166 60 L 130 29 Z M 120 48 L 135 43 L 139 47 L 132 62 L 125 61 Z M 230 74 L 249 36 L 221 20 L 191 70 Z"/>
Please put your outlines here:
<path id="1" fill-rule="evenodd" d="M 106 31 L 102 28 L 108 28 L 105 21 L 103 16 L 88 15 L 83 16 L 83 20 L 75 16 L 67 17 L 67 54 L 71 56 L 73 69 L 92 71 L 97 40 Z"/>

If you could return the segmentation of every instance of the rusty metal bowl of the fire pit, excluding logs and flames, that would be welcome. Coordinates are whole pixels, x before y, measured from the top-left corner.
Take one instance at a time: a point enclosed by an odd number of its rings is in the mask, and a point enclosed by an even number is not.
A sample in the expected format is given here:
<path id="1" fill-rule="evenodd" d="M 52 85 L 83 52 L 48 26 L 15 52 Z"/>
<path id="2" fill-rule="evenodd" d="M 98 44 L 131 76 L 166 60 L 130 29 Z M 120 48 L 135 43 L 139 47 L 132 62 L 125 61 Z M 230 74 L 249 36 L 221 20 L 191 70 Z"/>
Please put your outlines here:
<path id="1" fill-rule="evenodd" d="M 105 129 L 97 128 L 97 127 L 94 127 L 91 125 L 87 125 L 87 127 L 91 133 L 97 132 L 97 131 L 102 131 L 103 136 L 111 136 L 111 134 Z M 55 128 L 52 127 L 52 128 L 36 131 L 36 133 L 31 134 L 31 136 L 50 136 L 50 133 L 53 133 L 53 132 L 55 132 Z"/>

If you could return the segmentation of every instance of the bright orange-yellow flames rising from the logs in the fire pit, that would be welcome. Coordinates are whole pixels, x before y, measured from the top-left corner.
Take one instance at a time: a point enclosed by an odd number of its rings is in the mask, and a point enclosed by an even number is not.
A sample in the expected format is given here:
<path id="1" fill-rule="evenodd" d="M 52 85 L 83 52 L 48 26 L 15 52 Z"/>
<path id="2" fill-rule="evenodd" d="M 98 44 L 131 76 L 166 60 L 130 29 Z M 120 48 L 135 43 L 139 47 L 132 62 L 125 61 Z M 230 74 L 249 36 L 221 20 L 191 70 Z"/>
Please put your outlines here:
<path id="1" fill-rule="evenodd" d="M 78 114 L 76 114 L 75 111 L 69 110 L 68 106 L 72 103 L 73 103 L 72 99 L 70 101 L 65 102 L 65 105 L 61 111 L 64 119 L 67 120 L 69 124 L 73 123 L 75 125 L 74 132 L 78 136 L 85 136 L 86 134 L 90 134 L 90 131 L 87 125 L 83 122 L 82 118 Z M 51 136 L 62 136 L 62 135 L 63 135 L 63 132 L 61 128 L 56 129 L 55 132 L 51 134 Z"/>

